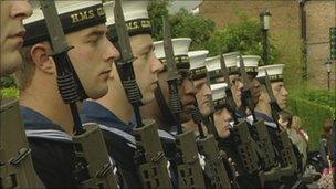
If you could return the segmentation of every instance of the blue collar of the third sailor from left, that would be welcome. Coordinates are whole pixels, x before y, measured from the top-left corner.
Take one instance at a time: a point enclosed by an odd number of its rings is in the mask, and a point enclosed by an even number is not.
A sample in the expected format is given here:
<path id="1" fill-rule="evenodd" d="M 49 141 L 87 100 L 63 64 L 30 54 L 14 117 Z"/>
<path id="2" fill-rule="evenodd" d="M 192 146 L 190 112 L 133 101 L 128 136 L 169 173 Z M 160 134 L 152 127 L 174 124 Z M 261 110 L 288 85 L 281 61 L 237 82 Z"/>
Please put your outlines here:
<path id="1" fill-rule="evenodd" d="M 81 114 L 81 117 L 83 124 L 97 123 L 107 127 L 117 128 L 128 134 L 133 134 L 132 124 L 125 124 L 113 112 L 96 102 L 83 102 L 83 113 Z"/>

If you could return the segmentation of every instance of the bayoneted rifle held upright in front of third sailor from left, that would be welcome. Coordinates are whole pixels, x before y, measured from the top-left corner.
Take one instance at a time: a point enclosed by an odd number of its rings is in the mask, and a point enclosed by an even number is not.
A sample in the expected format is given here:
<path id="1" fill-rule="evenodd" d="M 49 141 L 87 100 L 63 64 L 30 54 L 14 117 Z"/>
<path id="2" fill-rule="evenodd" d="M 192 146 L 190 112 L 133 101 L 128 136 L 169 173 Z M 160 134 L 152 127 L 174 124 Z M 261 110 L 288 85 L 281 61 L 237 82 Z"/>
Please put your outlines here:
<path id="1" fill-rule="evenodd" d="M 136 116 L 137 124 L 134 128 L 136 139 L 135 161 L 143 188 L 172 188 L 167 170 L 167 159 L 158 136 L 158 127 L 153 119 L 143 120 L 139 112 L 141 93 L 135 80 L 134 56 L 120 0 L 115 1 L 114 17 L 120 51 L 120 60 L 117 61 L 116 65 L 125 93 Z"/>

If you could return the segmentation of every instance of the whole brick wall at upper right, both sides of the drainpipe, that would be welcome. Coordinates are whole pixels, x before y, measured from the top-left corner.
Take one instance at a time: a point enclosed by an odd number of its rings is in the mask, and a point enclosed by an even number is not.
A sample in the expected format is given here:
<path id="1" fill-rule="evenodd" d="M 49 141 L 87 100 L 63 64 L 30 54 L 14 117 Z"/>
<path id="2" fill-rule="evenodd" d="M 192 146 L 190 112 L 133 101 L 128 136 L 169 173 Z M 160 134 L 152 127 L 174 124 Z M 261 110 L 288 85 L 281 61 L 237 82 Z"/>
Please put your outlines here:
<path id="1" fill-rule="evenodd" d="M 199 13 L 213 20 L 218 28 L 237 22 L 237 11 L 244 11 L 249 17 L 259 19 L 259 13 L 269 9 L 272 13 L 270 36 L 272 43 L 280 49 L 279 63 L 285 63 L 287 84 L 301 84 L 304 62 L 302 59 L 303 42 L 301 39 L 301 15 L 298 1 L 262 0 L 229 1 L 203 0 Z M 335 1 L 308 1 L 305 6 L 307 14 L 307 81 L 309 86 L 326 88 L 326 72 L 323 62 L 329 55 L 329 27 L 335 25 Z M 322 43 L 325 42 L 325 43 Z M 335 86 L 335 64 L 332 74 L 332 86 Z"/>

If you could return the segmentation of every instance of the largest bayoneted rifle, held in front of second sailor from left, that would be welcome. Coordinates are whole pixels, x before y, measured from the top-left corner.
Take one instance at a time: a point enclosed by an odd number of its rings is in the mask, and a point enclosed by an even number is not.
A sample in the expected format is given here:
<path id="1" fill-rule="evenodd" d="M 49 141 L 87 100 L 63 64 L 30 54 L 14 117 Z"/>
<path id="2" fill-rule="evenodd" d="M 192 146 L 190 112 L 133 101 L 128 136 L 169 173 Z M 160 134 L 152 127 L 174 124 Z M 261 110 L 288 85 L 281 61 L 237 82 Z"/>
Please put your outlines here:
<path id="1" fill-rule="evenodd" d="M 41 9 L 50 34 L 56 63 L 57 84 L 65 104 L 70 105 L 75 135 L 72 137 L 76 157 L 75 177 L 84 188 L 116 188 L 109 156 L 98 125 L 83 128 L 76 102 L 86 97 L 85 91 L 71 63 L 69 46 L 54 1 L 40 0 Z"/>

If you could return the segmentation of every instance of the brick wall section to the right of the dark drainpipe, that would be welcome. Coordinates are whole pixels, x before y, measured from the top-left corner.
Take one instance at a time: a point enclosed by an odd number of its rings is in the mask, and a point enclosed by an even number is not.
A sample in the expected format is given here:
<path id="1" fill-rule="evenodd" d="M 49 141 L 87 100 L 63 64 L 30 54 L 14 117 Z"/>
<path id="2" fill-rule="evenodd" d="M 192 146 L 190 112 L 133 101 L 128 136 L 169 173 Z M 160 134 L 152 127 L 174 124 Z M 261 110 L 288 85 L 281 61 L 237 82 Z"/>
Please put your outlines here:
<path id="1" fill-rule="evenodd" d="M 307 63 L 308 83 L 317 87 L 327 87 L 327 74 L 324 63 L 330 55 L 329 28 L 336 25 L 335 1 L 308 1 L 307 13 Z M 330 84 L 335 88 L 334 61 Z"/>

